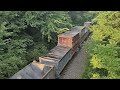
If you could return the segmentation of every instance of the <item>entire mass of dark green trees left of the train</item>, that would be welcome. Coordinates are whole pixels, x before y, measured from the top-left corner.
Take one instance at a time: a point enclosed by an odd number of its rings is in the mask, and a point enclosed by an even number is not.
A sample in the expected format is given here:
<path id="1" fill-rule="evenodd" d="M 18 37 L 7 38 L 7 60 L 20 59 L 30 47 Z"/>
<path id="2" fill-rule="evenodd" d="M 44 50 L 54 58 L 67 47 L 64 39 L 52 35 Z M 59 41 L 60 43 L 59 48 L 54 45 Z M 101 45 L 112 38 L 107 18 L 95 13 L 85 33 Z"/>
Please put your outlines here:
<path id="1" fill-rule="evenodd" d="M 64 11 L 0 11 L 0 78 L 45 54 L 71 26 Z"/>

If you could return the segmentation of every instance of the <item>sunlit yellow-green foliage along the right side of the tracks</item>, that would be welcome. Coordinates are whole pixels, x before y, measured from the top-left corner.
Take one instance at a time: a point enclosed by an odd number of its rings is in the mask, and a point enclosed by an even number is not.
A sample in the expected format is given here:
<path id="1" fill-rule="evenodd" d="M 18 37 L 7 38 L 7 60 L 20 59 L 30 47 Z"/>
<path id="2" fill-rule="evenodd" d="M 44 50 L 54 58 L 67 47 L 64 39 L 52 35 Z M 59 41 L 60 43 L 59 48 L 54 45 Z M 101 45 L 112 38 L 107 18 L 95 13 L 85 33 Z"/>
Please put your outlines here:
<path id="1" fill-rule="evenodd" d="M 92 79 L 119 79 L 120 12 L 98 12 L 98 16 L 93 22 L 95 25 L 90 27 L 93 32 L 91 40 L 86 43 L 92 66 L 89 76 Z M 88 66 L 88 68 L 91 67 Z"/>

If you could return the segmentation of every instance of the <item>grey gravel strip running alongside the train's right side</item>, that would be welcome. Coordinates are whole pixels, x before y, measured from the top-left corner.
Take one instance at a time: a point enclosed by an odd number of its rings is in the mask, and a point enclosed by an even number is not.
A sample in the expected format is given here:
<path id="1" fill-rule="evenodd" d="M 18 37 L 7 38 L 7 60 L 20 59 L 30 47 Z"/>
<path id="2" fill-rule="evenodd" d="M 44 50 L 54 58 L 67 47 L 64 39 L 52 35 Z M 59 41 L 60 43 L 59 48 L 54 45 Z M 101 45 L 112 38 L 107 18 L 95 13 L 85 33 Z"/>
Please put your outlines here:
<path id="1" fill-rule="evenodd" d="M 61 79 L 81 79 L 87 60 L 86 50 L 82 48 L 67 64 L 61 73 Z"/>

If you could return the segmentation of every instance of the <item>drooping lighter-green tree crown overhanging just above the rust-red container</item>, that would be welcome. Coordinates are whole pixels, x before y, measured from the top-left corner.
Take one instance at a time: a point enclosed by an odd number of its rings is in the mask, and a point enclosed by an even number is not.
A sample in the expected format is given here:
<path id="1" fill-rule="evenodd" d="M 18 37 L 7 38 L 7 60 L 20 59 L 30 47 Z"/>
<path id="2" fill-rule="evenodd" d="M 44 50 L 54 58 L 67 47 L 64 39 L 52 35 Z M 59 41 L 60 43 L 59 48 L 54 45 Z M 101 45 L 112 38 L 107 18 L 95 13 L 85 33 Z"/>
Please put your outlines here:
<path id="1" fill-rule="evenodd" d="M 27 24 L 38 28 L 42 37 L 47 37 L 48 41 L 72 26 L 70 17 L 63 11 L 27 11 L 25 17 Z"/>

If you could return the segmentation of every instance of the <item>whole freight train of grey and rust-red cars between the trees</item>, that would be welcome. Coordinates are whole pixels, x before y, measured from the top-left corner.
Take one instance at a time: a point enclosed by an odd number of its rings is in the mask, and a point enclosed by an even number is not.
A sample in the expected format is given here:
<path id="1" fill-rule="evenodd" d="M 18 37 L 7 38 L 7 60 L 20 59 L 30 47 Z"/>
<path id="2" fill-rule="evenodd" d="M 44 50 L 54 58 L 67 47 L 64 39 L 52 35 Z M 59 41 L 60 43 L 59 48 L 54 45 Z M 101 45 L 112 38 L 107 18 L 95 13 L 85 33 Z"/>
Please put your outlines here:
<path id="1" fill-rule="evenodd" d="M 39 57 L 39 60 L 24 67 L 10 79 L 60 78 L 62 70 L 89 36 L 90 31 L 87 29 L 89 25 L 91 25 L 90 22 L 85 22 L 84 26 L 75 26 L 70 31 L 58 35 L 57 46 L 46 55 Z"/>

